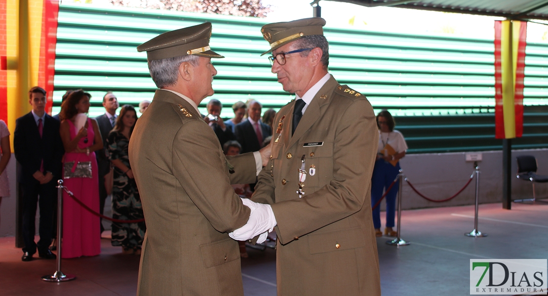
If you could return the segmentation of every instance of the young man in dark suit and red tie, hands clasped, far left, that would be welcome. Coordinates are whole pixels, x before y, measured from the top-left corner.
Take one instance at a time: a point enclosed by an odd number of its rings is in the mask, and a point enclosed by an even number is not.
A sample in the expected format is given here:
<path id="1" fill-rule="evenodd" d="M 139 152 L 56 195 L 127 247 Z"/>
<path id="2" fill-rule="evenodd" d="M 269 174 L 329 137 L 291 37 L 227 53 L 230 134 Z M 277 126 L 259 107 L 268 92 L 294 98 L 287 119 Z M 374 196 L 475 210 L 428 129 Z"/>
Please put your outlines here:
<path id="1" fill-rule="evenodd" d="M 45 95 L 45 90 L 39 86 L 28 91 L 32 111 L 15 121 L 13 146 L 15 159 L 21 164 L 19 188 L 22 190 L 22 233 L 25 242 L 23 261 L 32 260 L 36 249 L 41 258 L 56 258 L 49 245 L 52 243 L 52 221 L 57 198 L 55 185 L 62 177 L 61 159 L 65 150 L 59 135 L 59 121 L 45 113 Z M 37 202 L 40 205 L 40 240 L 35 243 Z"/>

